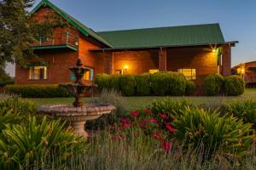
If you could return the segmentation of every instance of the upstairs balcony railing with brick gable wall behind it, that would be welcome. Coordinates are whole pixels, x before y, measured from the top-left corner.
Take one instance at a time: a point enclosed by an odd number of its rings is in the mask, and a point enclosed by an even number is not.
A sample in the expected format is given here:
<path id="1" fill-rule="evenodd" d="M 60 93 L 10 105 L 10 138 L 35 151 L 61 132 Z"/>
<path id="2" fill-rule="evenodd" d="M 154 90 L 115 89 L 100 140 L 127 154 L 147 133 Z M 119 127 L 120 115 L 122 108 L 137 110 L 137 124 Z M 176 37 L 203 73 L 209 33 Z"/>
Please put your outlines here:
<path id="1" fill-rule="evenodd" d="M 38 37 L 37 39 L 38 42 L 33 43 L 32 47 L 68 45 L 78 48 L 79 42 L 79 38 L 73 36 L 70 32 L 55 33 L 52 37 Z"/>

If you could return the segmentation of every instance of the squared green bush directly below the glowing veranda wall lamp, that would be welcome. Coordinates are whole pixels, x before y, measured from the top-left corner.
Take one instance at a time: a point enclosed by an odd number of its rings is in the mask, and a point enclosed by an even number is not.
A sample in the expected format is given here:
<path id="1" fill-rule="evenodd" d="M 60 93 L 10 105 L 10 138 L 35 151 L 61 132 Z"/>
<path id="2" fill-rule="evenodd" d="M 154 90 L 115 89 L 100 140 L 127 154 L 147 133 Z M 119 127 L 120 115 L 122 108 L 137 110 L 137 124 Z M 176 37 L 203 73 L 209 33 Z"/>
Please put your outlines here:
<path id="1" fill-rule="evenodd" d="M 125 75 L 119 77 L 120 90 L 125 96 L 133 96 L 136 92 L 136 80 L 134 76 Z"/>

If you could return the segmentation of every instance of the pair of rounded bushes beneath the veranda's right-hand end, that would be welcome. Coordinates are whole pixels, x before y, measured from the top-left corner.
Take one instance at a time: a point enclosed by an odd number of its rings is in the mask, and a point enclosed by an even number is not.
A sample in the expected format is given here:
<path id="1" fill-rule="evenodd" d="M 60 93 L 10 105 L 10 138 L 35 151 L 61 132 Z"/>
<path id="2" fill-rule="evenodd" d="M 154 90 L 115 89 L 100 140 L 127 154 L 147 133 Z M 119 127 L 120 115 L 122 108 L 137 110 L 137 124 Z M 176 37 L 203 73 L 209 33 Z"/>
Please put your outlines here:
<path id="1" fill-rule="evenodd" d="M 208 76 L 205 80 L 205 92 L 209 96 L 237 96 L 244 93 L 245 81 L 236 75 L 223 77 L 219 74 Z"/>

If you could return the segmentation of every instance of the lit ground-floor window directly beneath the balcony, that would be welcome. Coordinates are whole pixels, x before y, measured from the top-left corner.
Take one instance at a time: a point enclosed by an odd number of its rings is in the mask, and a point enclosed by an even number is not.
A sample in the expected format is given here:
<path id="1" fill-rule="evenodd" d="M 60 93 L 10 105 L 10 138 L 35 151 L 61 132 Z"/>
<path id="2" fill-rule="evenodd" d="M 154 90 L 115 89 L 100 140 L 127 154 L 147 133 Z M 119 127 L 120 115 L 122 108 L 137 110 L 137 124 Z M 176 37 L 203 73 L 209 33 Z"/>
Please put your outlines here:
<path id="1" fill-rule="evenodd" d="M 29 67 L 29 79 L 30 80 L 46 80 L 47 67 L 46 66 Z"/>

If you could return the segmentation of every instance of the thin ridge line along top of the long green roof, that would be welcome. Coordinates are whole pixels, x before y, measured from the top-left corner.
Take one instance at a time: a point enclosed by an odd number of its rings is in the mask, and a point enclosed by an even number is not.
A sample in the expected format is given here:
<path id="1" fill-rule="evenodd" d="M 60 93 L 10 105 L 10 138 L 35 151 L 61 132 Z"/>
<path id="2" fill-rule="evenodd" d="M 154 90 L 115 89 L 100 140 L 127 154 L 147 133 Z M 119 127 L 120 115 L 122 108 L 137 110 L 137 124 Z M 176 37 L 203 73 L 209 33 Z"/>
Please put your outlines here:
<path id="1" fill-rule="evenodd" d="M 113 32 L 113 31 L 138 31 L 138 30 L 162 29 L 162 28 L 175 28 L 175 27 L 186 27 L 186 26 L 211 26 L 211 25 L 218 25 L 218 26 L 219 26 L 219 23 L 181 25 L 181 26 L 159 26 L 159 27 L 134 28 L 134 29 L 124 29 L 124 30 L 111 30 L 111 31 L 96 31 L 96 33 Z"/>

